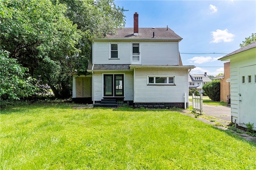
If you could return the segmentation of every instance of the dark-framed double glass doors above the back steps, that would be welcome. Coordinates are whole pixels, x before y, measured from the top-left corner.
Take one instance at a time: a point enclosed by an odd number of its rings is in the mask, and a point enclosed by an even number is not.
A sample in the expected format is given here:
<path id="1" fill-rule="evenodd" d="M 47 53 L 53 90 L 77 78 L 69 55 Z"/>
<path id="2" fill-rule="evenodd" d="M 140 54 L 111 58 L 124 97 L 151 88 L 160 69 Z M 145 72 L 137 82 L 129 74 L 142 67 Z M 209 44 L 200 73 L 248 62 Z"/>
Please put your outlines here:
<path id="1" fill-rule="evenodd" d="M 104 74 L 104 97 L 124 96 L 124 74 Z"/>

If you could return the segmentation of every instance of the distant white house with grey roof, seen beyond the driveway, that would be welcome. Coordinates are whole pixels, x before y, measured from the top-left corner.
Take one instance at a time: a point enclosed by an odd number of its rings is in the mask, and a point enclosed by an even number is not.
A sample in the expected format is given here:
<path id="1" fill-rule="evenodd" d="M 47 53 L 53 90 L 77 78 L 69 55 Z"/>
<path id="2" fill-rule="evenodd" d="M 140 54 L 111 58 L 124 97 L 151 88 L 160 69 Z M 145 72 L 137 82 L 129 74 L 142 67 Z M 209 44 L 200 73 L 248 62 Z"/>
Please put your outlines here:
<path id="1" fill-rule="evenodd" d="M 204 74 L 189 74 L 190 78 L 188 81 L 189 88 L 196 88 L 199 93 L 203 93 L 203 85 L 211 82 L 212 80 L 207 76 L 207 73 Z"/>

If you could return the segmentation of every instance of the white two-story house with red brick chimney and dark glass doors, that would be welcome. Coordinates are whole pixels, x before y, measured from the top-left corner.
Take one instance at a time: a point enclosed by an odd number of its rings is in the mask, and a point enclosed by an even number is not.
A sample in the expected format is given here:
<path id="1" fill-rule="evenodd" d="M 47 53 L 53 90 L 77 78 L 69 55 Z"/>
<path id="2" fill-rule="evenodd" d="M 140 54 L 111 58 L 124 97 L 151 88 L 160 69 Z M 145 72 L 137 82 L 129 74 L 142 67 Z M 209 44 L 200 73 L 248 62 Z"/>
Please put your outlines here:
<path id="1" fill-rule="evenodd" d="M 73 98 L 89 98 L 95 107 L 108 99 L 135 108 L 188 106 L 189 72 L 194 66 L 182 65 L 182 38 L 168 27 L 139 28 L 137 13 L 134 28 L 116 32 L 91 40 L 91 74 L 73 76 Z"/>

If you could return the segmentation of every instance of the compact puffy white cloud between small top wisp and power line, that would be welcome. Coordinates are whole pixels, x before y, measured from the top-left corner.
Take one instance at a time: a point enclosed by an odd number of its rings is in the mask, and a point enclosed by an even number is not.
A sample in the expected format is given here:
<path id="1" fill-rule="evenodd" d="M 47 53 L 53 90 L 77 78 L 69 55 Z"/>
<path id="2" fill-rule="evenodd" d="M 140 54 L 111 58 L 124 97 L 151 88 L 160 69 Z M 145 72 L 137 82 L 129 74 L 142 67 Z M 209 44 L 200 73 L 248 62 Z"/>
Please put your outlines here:
<path id="1" fill-rule="evenodd" d="M 212 31 L 212 36 L 213 36 L 213 41 L 211 41 L 210 43 L 220 43 L 222 41 L 224 42 L 231 42 L 233 41 L 233 37 L 235 36 L 232 33 L 228 33 L 228 29 L 217 29 L 216 31 Z"/>

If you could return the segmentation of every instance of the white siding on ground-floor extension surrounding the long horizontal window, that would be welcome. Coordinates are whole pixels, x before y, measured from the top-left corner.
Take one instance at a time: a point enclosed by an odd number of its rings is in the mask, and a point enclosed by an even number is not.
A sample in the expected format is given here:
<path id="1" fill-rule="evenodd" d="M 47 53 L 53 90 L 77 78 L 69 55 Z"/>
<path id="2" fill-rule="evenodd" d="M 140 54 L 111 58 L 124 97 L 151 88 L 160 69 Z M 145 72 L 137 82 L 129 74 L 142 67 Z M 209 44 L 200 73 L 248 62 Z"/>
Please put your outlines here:
<path id="1" fill-rule="evenodd" d="M 148 86 L 147 76 L 175 75 L 176 86 Z M 134 80 L 134 102 L 184 102 L 184 93 L 188 93 L 187 69 L 136 69 Z"/>

